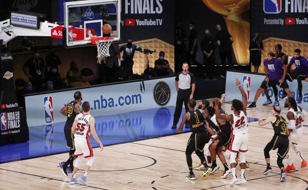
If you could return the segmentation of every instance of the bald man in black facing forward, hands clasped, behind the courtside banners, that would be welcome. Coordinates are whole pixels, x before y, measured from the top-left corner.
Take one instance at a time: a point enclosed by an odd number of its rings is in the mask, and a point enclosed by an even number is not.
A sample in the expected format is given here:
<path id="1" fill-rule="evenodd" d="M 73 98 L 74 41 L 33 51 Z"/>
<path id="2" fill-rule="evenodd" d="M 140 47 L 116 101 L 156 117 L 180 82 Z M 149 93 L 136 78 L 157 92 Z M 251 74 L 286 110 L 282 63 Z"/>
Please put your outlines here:
<path id="1" fill-rule="evenodd" d="M 205 37 L 201 40 L 201 50 L 205 66 L 205 80 L 217 80 L 215 74 L 214 49 L 215 40 L 210 35 L 210 30 L 205 30 Z"/>

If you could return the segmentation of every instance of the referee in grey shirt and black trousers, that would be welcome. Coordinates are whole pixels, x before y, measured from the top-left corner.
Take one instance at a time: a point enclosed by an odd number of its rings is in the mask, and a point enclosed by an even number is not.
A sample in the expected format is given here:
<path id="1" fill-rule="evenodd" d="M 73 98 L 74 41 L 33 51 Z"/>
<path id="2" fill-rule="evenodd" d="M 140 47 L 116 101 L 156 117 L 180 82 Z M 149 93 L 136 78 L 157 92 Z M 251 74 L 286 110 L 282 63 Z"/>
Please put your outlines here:
<path id="1" fill-rule="evenodd" d="M 188 71 L 189 65 L 188 63 L 183 63 L 182 65 L 182 72 L 179 72 L 176 77 L 175 77 L 175 87 L 178 91 L 178 96 L 177 96 L 177 102 L 175 106 L 175 111 L 174 111 L 174 117 L 173 117 L 173 125 L 172 129 L 177 128 L 177 124 L 179 122 L 181 112 L 182 112 L 182 107 L 183 107 L 183 102 L 185 106 L 186 112 L 189 112 L 187 103 L 190 99 L 193 98 L 193 93 L 195 89 L 195 79 L 192 73 Z M 189 124 L 186 123 L 185 128 L 188 128 Z"/>

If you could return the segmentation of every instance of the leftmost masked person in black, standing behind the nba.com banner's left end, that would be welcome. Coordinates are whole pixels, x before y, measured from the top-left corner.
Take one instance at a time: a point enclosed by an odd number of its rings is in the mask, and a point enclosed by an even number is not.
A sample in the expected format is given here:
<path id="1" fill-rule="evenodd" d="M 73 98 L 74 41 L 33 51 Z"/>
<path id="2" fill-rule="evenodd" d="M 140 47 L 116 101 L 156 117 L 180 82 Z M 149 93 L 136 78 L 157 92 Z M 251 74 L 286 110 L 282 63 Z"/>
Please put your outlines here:
<path id="1" fill-rule="evenodd" d="M 33 57 L 27 60 L 22 70 L 29 77 L 29 81 L 32 83 L 34 90 L 39 92 L 42 91 L 45 62 L 39 57 L 39 50 L 34 50 L 33 53 Z"/>

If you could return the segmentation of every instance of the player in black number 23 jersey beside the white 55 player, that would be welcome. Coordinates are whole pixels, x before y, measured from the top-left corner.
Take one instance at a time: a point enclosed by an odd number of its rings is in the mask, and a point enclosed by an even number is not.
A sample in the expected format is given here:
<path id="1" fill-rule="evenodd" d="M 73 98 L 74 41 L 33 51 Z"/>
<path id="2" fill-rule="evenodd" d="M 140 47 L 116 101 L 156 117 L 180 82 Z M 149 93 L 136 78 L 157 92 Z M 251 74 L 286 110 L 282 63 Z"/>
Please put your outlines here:
<path id="1" fill-rule="evenodd" d="M 74 93 L 74 99 L 72 102 L 67 103 L 61 110 L 60 113 L 64 116 L 67 116 L 67 120 L 64 125 L 64 134 L 66 138 L 66 144 L 67 147 L 69 147 L 71 150 L 69 152 L 70 156 L 69 159 L 66 162 L 60 162 L 59 166 L 61 170 L 64 172 L 64 174 L 72 173 L 74 166 L 73 161 L 74 157 L 73 154 L 75 152 L 75 145 L 74 145 L 74 135 L 72 134 L 72 125 L 74 123 L 74 119 L 77 114 L 81 113 L 82 109 L 80 106 L 80 102 L 82 100 L 82 95 L 80 91 L 77 91 Z M 70 165 L 70 167 L 68 167 Z"/>

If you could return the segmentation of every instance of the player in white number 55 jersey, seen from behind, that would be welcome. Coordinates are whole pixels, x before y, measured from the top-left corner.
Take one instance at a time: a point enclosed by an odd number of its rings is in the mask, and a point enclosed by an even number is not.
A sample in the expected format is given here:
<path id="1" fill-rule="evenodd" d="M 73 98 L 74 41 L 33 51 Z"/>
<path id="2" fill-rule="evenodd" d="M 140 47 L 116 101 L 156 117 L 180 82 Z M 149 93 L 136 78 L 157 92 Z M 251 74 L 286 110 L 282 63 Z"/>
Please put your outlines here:
<path id="1" fill-rule="evenodd" d="M 95 131 L 95 120 L 94 117 L 90 115 L 90 104 L 89 102 L 84 102 L 82 104 L 83 113 L 77 114 L 75 117 L 75 121 L 72 126 L 72 133 L 75 136 L 75 156 L 78 156 L 74 162 L 74 170 L 73 175 L 70 180 L 70 184 L 81 184 L 88 186 L 86 177 L 90 170 L 90 167 L 94 161 L 93 150 L 89 141 L 90 132 L 92 133 L 93 138 L 100 146 L 100 151 L 103 151 L 104 147 L 100 139 L 98 138 Z M 86 158 L 87 162 L 85 164 L 84 173 L 82 176 L 76 179 L 77 171 L 80 167 L 80 162 L 82 160 L 82 156 Z"/>

